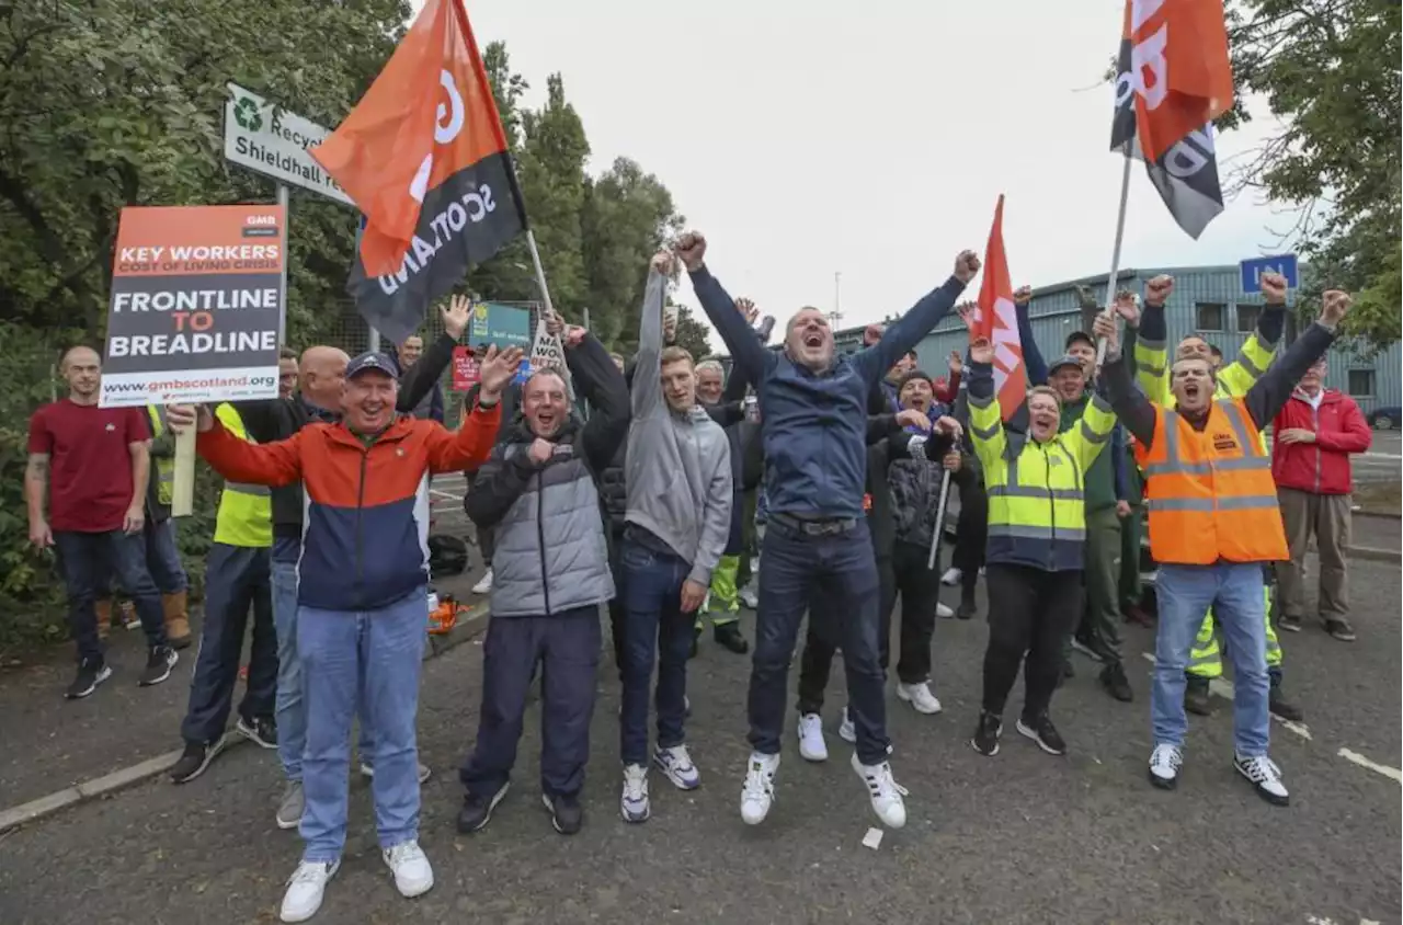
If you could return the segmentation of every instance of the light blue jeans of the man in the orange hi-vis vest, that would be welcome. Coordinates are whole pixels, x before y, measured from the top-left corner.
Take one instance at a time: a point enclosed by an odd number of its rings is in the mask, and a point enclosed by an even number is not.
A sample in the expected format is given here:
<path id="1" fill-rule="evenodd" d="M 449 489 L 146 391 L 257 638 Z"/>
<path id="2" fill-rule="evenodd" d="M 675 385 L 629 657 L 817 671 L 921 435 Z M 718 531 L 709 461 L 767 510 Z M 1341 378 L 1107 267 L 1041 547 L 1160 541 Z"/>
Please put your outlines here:
<path id="1" fill-rule="evenodd" d="M 1266 755 L 1271 736 L 1267 678 L 1266 604 L 1260 563 L 1160 566 L 1155 585 L 1159 632 L 1150 717 L 1155 744 L 1184 744 L 1184 670 L 1194 637 L 1211 606 L 1228 640 L 1233 668 L 1233 741 L 1237 754 Z"/>

